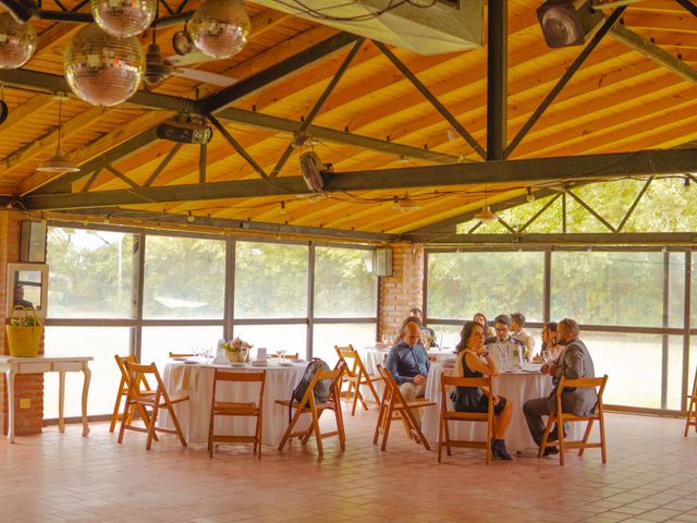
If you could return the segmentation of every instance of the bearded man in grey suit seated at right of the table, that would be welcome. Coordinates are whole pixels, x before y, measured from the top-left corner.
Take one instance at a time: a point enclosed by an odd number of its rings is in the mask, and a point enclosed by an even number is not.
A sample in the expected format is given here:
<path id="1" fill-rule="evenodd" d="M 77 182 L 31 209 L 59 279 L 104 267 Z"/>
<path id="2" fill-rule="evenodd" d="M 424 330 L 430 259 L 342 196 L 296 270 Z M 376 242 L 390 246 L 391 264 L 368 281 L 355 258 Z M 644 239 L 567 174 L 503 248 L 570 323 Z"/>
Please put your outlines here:
<path id="1" fill-rule="evenodd" d="M 542 416 L 557 412 L 557 387 L 562 376 L 568 379 L 595 378 L 596 376 L 588 349 L 586 349 L 584 342 L 578 339 L 578 324 L 573 319 L 562 319 L 559 323 L 557 337 L 559 343 L 564 345 L 564 349 L 554 363 L 545 364 L 541 368 L 542 374 L 549 374 L 552 377 L 554 388 L 547 398 L 529 400 L 523 405 L 523 413 L 525 414 L 527 426 L 537 445 L 542 442 L 542 435 L 545 434 Z M 562 397 L 564 412 L 578 416 L 592 412 L 597 402 L 598 394 L 596 390 L 591 388 L 566 390 Z M 558 437 L 557 430 L 550 431 L 550 441 L 554 441 Z M 545 455 L 555 454 L 558 452 L 559 449 L 557 447 L 548 447 L 545 449 Z"/>

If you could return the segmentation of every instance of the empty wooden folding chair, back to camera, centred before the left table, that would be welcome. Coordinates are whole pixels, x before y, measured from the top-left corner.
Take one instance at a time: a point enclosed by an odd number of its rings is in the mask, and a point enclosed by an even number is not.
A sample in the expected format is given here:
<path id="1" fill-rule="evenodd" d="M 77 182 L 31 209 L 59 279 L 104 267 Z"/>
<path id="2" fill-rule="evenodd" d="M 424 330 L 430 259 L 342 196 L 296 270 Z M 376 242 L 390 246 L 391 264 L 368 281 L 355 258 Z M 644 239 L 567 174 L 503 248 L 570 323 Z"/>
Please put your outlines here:
<path id="1" fill-rule="evenodd" d="M 216 400 L 218 381 L 259 384 L 259 399 L 256 403 L 237 403 L 232 401 Z M 210 400 L 210 422 L 208 425 L 208 452 L 213 457 L 216 442 L 221 443 L 254 443 L 254 453 L 261 459 L 261 413 L 264 402 L 264 385 L 266 370 L 260 373 L 231 373 L 216 368 L 213 375 L 213 392 Z M 252 416 L 257 418 L 254 436 L 232 436 L 215 434 L 213 425 L 216 416 Z"/>

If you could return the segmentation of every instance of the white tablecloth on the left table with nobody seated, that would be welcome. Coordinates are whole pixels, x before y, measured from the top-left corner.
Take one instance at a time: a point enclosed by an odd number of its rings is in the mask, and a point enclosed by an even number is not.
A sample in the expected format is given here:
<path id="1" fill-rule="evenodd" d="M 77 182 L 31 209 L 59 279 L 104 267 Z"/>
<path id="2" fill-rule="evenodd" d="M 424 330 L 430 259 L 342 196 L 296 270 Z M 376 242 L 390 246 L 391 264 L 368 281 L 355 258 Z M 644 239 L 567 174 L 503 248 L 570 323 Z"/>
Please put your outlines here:
<path id="1" fill-rule="evenodd" d="M 188 401 L 174 405 L 174 412 L 189 443 L 208 441 L 208 423 L 210 415 L 210 400 L 213 388 L 213 369 L 224 368 L 230 372 L 254 373 L 266 370 L 264 390 L 262 437 L 264 445 L 277 446 L 281 442 L 283 433 L 288 428 L 289 410 L 276 403 L 276 400 L 290 400 L 293 389 L 301 380 L 307 363 L 281 367 L 278 363 L 269 363 L 266 367 L 231 367 L 229 365 L 189 365 L 181 362 L 168 363 L 164 367 L 162 381 L 167 391 L 186 392 Z M 216 393 L 219 401 L 257 402 L 259 387 L 257 384 L 219 382 Z M 158 425 L 173 428 L 171 416 L 167 411 L 160 411 Z M 218 416 L 216 433 L 239 436 L 253 435 L 256 419 L 244 416 Z M 309 422 L 308 422 L 309 423 Z M 301 425 L 302 426 L 302 425 Z"/>

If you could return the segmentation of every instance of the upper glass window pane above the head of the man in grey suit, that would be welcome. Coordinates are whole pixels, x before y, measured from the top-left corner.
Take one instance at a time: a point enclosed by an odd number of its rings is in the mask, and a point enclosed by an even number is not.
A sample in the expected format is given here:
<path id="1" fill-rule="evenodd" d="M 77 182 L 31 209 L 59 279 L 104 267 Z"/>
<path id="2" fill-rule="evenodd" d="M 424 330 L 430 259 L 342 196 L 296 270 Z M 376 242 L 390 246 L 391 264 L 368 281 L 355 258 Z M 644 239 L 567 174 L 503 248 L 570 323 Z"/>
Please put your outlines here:
<path id="1" fill-rule="evenodd" d="M 552 318 L 662 326 L 663 253 L 555 252 L 551 278 Z"/>

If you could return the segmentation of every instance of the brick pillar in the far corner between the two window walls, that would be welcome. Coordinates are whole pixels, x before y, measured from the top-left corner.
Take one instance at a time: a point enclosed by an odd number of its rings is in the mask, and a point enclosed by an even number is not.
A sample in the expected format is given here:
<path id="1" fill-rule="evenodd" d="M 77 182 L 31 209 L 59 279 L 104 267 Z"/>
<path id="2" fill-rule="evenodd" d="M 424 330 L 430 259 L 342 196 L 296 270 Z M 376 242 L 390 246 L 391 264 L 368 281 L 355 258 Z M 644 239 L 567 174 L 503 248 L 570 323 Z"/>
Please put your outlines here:
<path id="1" fill-rule="evenodd" d="M 424 301 L 424 247 L 411 243 L 390 245 L 392 276 L 380 278 L 380 332 L 398 332 L 409 308 Z"/>

